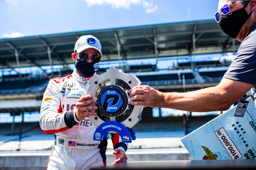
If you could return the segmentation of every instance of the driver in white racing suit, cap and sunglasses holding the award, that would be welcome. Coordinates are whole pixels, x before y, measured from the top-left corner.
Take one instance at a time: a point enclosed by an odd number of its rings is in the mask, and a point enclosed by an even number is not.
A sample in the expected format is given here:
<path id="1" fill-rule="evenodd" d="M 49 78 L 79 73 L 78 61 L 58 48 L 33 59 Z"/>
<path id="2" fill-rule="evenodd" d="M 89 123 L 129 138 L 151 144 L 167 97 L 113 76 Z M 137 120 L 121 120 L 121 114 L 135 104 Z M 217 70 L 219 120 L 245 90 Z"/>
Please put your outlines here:
<path id="1" fill-rule="evenodd" d="M 77 40 L 74 51 L 72 75 L 51 79 L 43 95 L 40 127 L 55 138 L 48 170 L 85 170 L 106 165 L 107 139 L 93 140 L 96 126 L 89 119 L 96 115 L 93 110 L 98 108 L 91 105 L 96 100 L 86 95 L 88 82 L 98 70 L 101 44 L 96 37 L 84 35 Z M 118 134 L 111 135 L 117 159 L 113 164 L 126 162 L 128 145 Z"/>

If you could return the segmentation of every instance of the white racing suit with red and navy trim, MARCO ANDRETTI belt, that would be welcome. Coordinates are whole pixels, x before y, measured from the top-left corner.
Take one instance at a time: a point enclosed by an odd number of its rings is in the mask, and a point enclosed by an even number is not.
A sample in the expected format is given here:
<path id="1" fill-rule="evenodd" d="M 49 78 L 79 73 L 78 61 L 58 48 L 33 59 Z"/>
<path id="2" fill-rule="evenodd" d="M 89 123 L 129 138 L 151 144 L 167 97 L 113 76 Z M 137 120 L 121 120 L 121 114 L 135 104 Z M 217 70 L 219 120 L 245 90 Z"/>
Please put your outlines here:
<path id="1" fill-rule="evenodd" d="M 107 139 L 93 140 L 96 126 L 88 117 L 78 121 L 75 104 L 86 94 L 91 78 L 72 75 L 53 78 L 43 95 L 40 127 L 46 134 L 54 134 L 55 143 L 48 162 L 48 170 L 85 170 L 106 165 Z M 114 149 L 127 150 L 118 134 L 112 134 Z"/>

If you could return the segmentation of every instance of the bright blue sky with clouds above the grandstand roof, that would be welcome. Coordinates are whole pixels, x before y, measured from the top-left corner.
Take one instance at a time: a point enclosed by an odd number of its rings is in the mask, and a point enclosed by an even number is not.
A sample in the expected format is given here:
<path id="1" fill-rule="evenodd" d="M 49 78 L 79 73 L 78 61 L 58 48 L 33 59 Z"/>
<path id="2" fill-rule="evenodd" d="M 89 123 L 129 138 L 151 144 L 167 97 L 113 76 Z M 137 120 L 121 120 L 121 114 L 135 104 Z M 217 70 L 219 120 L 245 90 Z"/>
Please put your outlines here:
<path id="1" fill-rule="evenodd" d="M 210 20 L 219 0 L 0 0 L 0 39 Z"/>

